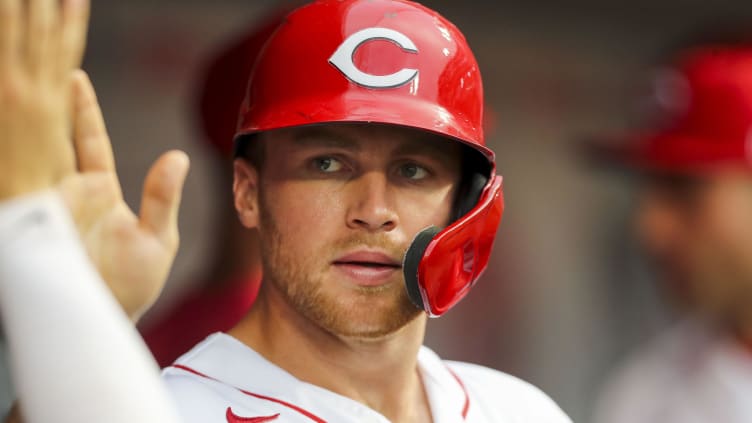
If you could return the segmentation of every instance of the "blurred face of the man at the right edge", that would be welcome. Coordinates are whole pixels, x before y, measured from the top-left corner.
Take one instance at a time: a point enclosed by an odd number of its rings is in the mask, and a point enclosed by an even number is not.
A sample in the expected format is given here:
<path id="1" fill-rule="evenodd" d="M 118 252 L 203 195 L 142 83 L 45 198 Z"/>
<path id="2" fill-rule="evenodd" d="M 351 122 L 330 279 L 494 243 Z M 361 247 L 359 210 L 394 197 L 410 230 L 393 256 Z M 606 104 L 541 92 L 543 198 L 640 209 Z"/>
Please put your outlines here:
<path id="1" fill-rule="evenodd" d="M 752 174 L 652 175 L 641 200 L 639 233 L 674 299 L 731 323 L 749 315 Z"/>

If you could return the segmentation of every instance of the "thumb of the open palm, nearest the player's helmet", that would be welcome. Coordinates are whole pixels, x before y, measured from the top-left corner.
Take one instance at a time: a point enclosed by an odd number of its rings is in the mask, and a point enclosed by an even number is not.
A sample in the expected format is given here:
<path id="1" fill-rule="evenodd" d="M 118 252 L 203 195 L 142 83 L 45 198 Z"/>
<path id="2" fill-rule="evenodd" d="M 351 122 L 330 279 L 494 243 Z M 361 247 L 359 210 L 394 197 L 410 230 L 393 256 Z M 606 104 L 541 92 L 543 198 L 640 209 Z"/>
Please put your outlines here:
<path id="1" fill-rule="evenodd" d="M 188 167 L 184 152 L 167 152 L 152 165 L 144 183 L 141 227 L 155 234 L 167 247 L 177 246 L 178 208 Z"/>

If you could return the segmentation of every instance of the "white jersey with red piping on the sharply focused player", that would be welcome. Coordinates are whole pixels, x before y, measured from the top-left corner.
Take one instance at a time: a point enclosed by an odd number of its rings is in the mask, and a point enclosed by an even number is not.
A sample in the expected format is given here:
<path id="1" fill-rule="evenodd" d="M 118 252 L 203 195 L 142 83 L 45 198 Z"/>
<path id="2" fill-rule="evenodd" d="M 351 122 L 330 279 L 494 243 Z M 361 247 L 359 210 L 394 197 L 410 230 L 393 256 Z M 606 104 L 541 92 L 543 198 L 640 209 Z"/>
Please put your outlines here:
<path id="1" fill-rule="evenodd" d="M 434 423 L 571 423 L 532 385 L 485 367 L 445 362 L 426 347 L 418 367 Z M 163 371 L 185 423 L 387 423 L 350 398 L 298 380 L 215 333 Z"/>

